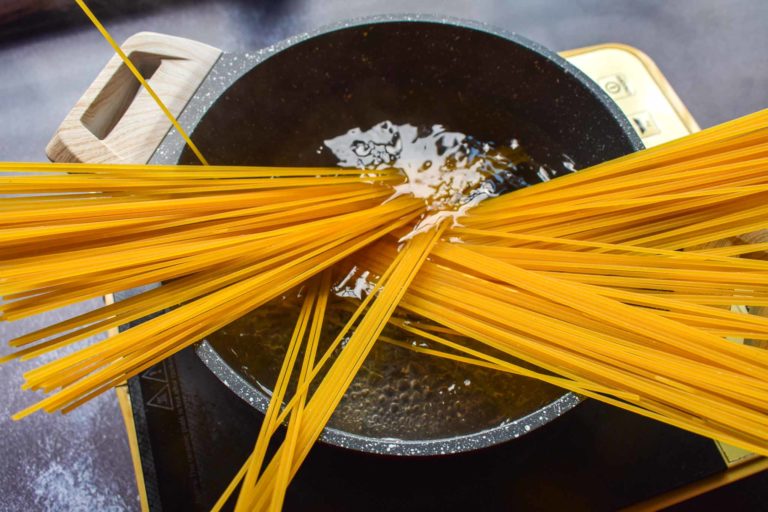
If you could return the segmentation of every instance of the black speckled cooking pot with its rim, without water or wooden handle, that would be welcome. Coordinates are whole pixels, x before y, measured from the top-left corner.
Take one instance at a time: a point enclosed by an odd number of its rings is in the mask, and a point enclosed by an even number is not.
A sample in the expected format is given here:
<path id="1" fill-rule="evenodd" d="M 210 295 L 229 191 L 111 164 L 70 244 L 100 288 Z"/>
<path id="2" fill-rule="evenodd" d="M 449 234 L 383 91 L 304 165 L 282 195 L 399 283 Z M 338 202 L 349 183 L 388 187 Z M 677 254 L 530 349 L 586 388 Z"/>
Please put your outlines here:
<path id="1" fill-rule="evenodd" d="M 224 54 L 180 117 L 211 163 L 278 166 L 335 165 L 330 152 L 317 150 L 324 140 L 384 120 L 439 123 L 480 140 L 515 138 L 539 162 L 567 154 L 576 168 L 642 148 L 617 106 L 555 53 L 484 25 L 428 17 L 363 19 L 253 54 Z M 152 163 L 176 162 L 197 160 L 171 132 Z M 258 375 L 208 342 L 198 354 L 264 410 Z M 455 453 L 518 437 L 579 400 L 558 392 L 500 424 L 421 438 L 338 427 L 332 419 L 322 439 L 378 453 Z"/>

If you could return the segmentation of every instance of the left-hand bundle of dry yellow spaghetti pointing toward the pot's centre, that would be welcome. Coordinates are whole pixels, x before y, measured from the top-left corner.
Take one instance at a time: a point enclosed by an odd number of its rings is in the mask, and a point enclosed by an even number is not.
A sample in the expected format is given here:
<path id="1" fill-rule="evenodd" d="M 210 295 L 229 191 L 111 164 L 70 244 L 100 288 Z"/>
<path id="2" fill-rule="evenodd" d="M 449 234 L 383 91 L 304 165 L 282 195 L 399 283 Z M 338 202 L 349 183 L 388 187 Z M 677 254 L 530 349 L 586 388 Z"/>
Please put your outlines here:
<path id="1" fill-rule="evenodd" d="M 402 178 L 338 169 L 5 164 L 2 319 L 155 282 L 166 286 L 11 342 L 30 358 L 148 314 L 172 311 L 33 370 L 26 387 L 62 390 L 68 410 L 412 220 Z M 61 169 L 61 170 L 59 170 Z M 62 171 L 76 174 L 62 174 Z M 41 341 L 44 340 L 44 341 Z"/>

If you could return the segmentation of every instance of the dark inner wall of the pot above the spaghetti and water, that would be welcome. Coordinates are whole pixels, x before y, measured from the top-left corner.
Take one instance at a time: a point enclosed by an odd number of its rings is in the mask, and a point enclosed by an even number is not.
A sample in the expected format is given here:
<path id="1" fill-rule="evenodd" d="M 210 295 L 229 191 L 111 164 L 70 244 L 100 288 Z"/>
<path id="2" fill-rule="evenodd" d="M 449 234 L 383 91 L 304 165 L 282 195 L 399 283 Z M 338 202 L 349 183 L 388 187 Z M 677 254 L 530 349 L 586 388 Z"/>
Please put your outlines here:
<path id="1" fill-rule="evenodd" d="M 610 100 L 540 51 L 524 40 L 438 23 L 324 33 L 237 80 L 194 139 L 211 162 L 259 165 L 334 165 L 331 155 L 316 153 L 318 144 L 386 119 L 440 123 L 482 140 L 516 137 L 532 152 L 544 142 L 577 167 L 639 148 Z M 196 163 L 189 151 L 181 161 Z"/>

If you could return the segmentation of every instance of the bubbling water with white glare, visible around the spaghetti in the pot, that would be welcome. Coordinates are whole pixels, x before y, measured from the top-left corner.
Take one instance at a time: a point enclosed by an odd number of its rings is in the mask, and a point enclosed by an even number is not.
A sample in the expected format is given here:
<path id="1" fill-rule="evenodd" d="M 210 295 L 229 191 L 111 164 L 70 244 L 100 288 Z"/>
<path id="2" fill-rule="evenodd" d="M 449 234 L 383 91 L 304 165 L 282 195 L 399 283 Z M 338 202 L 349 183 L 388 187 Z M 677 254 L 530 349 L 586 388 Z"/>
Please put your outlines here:
<path id="1" fill-rule="evenodd" d="M 317 151 L 331 152 L 343 167 L 401 169 L 408 183 L 395 193 L 424 198 L 428 206 L 416 231 L 428 229 L 444 216 L 461 222 L 461 215 L 487 197 L 573 171 L 568 157 L 562 156 L 554 165 L 551 159 L 539 163 L 515 139 L 492 143 L 440 125 L 416 127 L 389 121 L 328 139 Z M 346 323 L 350 300 L 363 298 L 374 282 L 354 257 L 337 266 L 334 280 L 320 353 Z M 277 380 L 302 292 L 298 288 L 278 297 L 208 338 L 230 366 L 267 394 Z M 382 336 L 434 347 L 394 326 L 387 326 Z M 455 341 L 475 343 L 463 338 Z M 513 421 L 562 394 L 563 390 L 537 380 L 378 342 L 329 426 L 365 437 L 444 439 Z"/>

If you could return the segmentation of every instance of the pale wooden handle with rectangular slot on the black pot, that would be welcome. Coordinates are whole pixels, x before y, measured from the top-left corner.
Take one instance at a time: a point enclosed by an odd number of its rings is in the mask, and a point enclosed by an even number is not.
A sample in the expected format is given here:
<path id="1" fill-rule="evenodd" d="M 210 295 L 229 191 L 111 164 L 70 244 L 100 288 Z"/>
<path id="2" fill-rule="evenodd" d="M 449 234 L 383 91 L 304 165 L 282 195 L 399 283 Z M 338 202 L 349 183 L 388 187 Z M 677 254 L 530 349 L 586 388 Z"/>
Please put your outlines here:
<path id="1" fill-rule="evenodd" d="M 221 55 L 197 41 L 152 32 L 122 49 L 174 116 Z M 171 127 L 152 97 L 114 55 L 45 149 L 54 162 L 146 163 Z"/>

